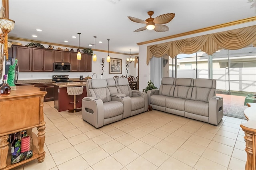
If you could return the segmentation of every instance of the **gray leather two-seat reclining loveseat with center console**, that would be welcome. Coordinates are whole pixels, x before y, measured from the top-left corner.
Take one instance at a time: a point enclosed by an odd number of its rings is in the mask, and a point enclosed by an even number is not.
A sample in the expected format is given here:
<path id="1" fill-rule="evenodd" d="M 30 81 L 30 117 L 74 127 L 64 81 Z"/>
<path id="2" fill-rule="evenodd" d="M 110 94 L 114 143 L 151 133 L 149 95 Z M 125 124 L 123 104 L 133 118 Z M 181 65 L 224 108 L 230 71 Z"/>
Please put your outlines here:
<path id="1" fill-rule="evenodd" d="M 82 118 L 96 128 L 147 111 L 145 92 L 132 91 L 128 79 L 89 79 Z"/>

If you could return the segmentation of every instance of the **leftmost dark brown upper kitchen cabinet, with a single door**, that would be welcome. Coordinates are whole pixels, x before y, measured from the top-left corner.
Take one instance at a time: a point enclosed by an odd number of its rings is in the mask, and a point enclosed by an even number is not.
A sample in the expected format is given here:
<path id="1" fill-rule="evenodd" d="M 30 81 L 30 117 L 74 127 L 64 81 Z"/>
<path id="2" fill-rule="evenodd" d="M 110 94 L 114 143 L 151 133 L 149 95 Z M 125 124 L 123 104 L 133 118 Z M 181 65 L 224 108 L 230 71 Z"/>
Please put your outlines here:
<path id="1" fill-rule="evenodd" d="M 32 70 L 32 48 L 26 46 L 13 46 L 12 55 L 18 59 L 19 71 Z"/>

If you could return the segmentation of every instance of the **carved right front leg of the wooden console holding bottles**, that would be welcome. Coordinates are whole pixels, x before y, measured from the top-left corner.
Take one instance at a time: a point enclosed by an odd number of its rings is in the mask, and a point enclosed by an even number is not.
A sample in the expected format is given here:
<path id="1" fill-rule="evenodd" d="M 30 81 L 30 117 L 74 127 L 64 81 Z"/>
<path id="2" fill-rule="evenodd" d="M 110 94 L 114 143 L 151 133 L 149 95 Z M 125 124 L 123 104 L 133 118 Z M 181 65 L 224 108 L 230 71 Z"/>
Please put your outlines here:
<path id="1" fill-rule="evenodd" d="M 44 162 L 44 157 L 45 157 L 45 151 L 44 151 L 44 140 L 45 140 L 45 125 L 42 127 L 37 127 L 38 130 L 38 154 L 42 154 L 41 157 L 37 158 L 38 162 Z"/>

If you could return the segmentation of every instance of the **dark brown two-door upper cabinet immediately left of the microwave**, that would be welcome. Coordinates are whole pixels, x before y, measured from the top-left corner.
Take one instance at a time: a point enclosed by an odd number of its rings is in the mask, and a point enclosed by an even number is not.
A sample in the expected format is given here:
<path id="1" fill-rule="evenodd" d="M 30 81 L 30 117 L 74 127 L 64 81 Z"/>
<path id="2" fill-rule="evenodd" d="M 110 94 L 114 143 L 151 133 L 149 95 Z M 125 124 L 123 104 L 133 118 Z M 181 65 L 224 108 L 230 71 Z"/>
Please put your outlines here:
<path id="1" fill-rule="evenodd" d="M 54 51 L 33 48 L 32 71 L 53 71 Z"/>

